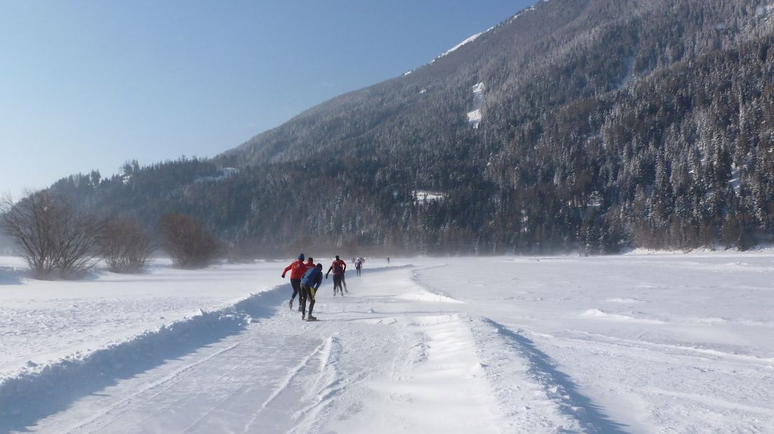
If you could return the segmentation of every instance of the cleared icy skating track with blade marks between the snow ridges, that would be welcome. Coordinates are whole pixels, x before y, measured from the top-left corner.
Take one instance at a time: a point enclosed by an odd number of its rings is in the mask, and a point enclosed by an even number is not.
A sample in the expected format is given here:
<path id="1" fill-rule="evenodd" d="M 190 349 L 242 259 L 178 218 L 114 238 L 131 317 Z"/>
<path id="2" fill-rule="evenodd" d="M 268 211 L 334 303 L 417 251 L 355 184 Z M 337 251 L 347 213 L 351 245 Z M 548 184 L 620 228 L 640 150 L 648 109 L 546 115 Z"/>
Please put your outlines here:
<path id="1" fill-rule="evenodd" d="M 416 269 L 320 288 L 238 333 L 37 421 L 38 432 L 615 432 L 533 344 L 419 286 Z M 289 293 L 289 286 L 277 291 Z M 286 299 L 283 299 L 286 300 Z M 98 373 L 94 373 L 99 375 Z M 64 391 L 60 391 L 64 392 Z M 583 405 L 586 405 L 586 408 Z M 16 427 L 17 429 L 21 427 Z"/>

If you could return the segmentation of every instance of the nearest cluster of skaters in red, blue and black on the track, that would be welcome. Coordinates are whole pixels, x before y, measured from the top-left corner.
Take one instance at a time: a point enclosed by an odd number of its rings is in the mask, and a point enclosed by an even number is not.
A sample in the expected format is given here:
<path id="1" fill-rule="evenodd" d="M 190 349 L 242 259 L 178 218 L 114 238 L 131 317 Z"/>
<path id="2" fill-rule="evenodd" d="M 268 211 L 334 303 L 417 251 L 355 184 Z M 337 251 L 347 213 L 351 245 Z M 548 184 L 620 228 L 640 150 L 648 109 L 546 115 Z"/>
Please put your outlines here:
<path id="1" fill-rule="evenodd" d="M 317 290 L 320 289 L 320 285 L 323 284 L 323 264 L 314 263 L 313 258 L 307 259 L 304 262 L 305 256 L 301 253 L 298 259 L 293 261 L 289 266 L 283 270 L 283 279 L 286 273 L 290 272 L 290 286 L 293 287 L 293 295 L 290 297 L 288 306 L 290 310 L 293 310 L 293 300 L 296 300 L 296 294 L 298 295 L 299 307 L 301 312 L 301 319 L 307 321 L 317 320 L 317 317 L 312 315 L 314 310 L 314 300 L 317 295 Z M 360 276 L 363 268 L 364 260 L 362 258 L 354 259 L 354 268 L 358 271 Z M 347 263 L 339 259 L 338 255 L 334 262 L 330 264 L 325 278 L 328 278 L 331 272 L 334 274 L 334 297 L 338 293 L 341 297 L 344 297 L 344 293 L 349 293 L 347 290 L 347 281 L 344 280 L 344 273 L 347 271 Z M 307 315 L 307 300 L 309 301 L 309 314 Z"/>

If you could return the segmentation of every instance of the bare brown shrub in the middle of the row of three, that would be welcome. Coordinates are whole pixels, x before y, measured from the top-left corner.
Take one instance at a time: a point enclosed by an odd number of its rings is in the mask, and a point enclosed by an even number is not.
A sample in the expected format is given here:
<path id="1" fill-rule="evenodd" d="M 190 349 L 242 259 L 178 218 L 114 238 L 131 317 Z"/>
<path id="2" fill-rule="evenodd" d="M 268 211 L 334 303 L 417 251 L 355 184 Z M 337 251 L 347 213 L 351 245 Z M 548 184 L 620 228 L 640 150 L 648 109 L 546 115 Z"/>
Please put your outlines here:
<path id="1" fill-rule="evenodd" d="M 115 273 L 137 273 L 156 248 L 151 236 L 134 219 L 108 219 L 98 239 L 99 253 Z"/>

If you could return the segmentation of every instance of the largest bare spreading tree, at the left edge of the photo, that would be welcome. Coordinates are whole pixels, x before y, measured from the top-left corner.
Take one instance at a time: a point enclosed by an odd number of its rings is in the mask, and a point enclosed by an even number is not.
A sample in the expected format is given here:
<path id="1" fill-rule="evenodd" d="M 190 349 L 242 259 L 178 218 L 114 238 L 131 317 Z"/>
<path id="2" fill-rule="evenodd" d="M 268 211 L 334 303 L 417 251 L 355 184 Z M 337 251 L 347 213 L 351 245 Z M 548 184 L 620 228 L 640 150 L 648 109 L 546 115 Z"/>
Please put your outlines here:
<path id="1" fill-rule="evenodd" d="M 77 279 L 97 263 L 101 223 L 77 212 L 48 192 L 36 192 L 12 204 L 0 229 L 14 239 L 36 279 Z"/>

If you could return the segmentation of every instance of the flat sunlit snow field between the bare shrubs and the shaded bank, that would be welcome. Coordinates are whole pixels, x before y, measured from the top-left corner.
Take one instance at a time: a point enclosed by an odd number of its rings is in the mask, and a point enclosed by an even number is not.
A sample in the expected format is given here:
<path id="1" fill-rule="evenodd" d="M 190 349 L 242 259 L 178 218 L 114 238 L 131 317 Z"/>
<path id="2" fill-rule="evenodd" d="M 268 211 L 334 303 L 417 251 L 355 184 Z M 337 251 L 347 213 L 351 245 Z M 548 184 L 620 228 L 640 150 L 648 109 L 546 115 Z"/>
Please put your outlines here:
<path id="1" fill-rule="evenodd" d="M 285 265 L 177 270 L 166 259 L 153 259 L 147 273 L 96 270 L 87 280 L 42 281 L 29 279 L 21 259 L 0 257 L 0 380 L 28 361 L 43 366 L 88 354 L 199 310 L 232 306 L 287 283 L 279 276 Z"/>

